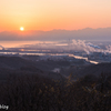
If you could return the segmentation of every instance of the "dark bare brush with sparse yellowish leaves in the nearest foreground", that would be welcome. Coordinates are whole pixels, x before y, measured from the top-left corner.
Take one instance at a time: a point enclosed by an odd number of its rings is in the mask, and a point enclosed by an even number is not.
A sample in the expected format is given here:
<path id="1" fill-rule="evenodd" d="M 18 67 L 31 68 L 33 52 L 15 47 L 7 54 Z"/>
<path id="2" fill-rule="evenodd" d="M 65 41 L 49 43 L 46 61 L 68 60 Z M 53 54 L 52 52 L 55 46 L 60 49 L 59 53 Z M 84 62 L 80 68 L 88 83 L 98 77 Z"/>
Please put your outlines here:
<path id="1" fill-rule="evenodd" d="M 111 75 L 51 80 L 37 74 L 10 74 L 0 82 L 0 103 L 9 111 L 110 111 Z"/>

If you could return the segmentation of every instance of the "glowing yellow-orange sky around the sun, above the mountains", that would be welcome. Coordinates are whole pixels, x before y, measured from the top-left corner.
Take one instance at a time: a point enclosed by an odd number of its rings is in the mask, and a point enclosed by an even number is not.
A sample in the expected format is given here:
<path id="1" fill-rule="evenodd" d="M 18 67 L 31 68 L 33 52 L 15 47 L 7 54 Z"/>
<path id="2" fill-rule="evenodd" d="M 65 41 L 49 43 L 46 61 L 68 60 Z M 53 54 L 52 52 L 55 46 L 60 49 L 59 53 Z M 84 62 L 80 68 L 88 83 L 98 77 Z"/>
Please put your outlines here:
<path id="1" fill-rule="evenodd" d="M 0 31 L 111 27 L 111 0 L 0 0 Z"/>

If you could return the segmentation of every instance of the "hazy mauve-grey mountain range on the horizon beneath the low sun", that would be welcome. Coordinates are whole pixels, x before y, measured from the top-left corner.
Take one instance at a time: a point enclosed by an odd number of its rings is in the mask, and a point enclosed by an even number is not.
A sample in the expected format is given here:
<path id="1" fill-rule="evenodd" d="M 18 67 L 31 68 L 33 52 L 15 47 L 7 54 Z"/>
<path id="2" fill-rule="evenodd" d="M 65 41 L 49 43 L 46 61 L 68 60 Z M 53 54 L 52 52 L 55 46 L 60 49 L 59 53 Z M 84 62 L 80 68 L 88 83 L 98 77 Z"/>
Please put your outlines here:
<path id="1" fill-rule="evenodd" d="M 24 32 L 0 32 L 0 40 L 42 40 L 42 41 L 58 41 L 58 40 L 111 40 L 111 28 L 82 30 L 51 30 L 51 31 L 24 31 Z"/>

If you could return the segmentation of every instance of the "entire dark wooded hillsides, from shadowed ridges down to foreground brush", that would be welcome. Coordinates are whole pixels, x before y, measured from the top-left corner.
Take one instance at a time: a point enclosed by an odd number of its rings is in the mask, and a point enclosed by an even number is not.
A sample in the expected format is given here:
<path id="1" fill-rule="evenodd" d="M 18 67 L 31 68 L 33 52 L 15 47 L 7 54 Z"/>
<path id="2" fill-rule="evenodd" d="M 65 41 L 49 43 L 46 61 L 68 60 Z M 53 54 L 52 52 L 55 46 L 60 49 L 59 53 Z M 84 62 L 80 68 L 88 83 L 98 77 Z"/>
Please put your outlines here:
<path id="1" fill-rule="evenodd" d="M 0 68 L 0 103 L 9 105 L 9 111 L 111 109 L 110 63 L 80 65 L 81 69 L 79 65 L 72 67 L 72 73 L 67 78 L 64 73 L 49 71 L 52 61 L 38 62 L 40 65 L 49 63 L 48 70 L 38 68 L 34 61 L 18 57 L 1 57 L 0 63 L 4 63 Z M 53 62 L 53 65 L 59 64 Z"/>

